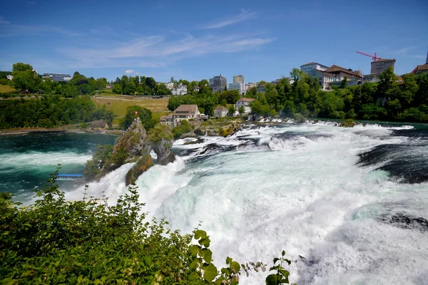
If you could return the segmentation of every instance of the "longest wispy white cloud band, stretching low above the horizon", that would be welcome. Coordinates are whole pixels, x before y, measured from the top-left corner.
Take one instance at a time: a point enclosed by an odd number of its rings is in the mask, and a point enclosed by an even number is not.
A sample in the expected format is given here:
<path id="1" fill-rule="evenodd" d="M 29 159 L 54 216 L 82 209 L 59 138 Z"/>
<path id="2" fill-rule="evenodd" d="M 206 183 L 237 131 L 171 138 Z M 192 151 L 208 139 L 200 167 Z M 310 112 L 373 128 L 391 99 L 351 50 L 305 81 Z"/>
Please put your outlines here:
<path id="1" fill-rule="evenodd" d="M 175 36 L 175 35 L 174 35 Z M 58 48 L 57 51 L 80 67 L 146 67 L 158 68 L 173 61 L 213 53 L 235 53 L 258 50 L 275 41 L 259 35 L 208 35 L 170 39 L 165 35 L 146 36 L 128 42 L 108 42 L 99 48 Z M 91 45 L 91 43 L 88 43 Z M 107 48 L 108 46 L 108 48 Z"/>

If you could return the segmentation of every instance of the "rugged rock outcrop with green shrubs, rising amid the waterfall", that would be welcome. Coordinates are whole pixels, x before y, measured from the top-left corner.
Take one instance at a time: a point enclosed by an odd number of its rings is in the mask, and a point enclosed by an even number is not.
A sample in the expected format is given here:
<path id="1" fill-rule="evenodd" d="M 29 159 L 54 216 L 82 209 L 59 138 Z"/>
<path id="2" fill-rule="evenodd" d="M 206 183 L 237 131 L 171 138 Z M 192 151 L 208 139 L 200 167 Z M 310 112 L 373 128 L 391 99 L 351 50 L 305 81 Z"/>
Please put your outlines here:
<path id="1" fill-rule="evenodd" d="M 153 137 L 156 137 L 156 140 L 153 140 Z M 171 150 L 172 138 L 170 128 L 167 126 L 156 126 L 148 135 L 140 121 L 134 122 L 128 131 L 116 140 L 111 159 L 103 165 L 100 174 L 97 175 L 98 178 L 128 162 L 136 162 L 126 174 L 126 185 L 136 182 L 143 172 L 154 165 L 151 150 L 158 155 L 158 164 L 167 165 L 173 162 L 175 156 Z"/>

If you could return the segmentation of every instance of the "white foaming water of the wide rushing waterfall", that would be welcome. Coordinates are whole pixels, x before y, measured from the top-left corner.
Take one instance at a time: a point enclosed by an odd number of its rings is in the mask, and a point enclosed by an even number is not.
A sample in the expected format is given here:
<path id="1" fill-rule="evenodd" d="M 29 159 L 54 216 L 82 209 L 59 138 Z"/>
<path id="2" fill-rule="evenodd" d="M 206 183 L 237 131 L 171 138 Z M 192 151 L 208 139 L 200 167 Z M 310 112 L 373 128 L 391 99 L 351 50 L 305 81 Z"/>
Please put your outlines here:
<path id="1" fill-rule="evenodd" d="M 358 154 L 376 145 L 415 143 L 392 135 L 409 128 L 286 124 L 195 145 L 178 140 L 175 150 L 187 154 L 152 167 L 136 184 L 146 210 L 171 228 L 188 233 L 203 221 L 219 268 L 228 256 L 272 264 L 284 249 L 298 284 L 427 284 L 427 230 L 390 220 L 427 219 L 428 184 L 356 165 Z M 130 167 L 91 183 L 89 195 L 123 195 Z M 240 284 L 264 284 L 265 276 L 254 273 Z"/>

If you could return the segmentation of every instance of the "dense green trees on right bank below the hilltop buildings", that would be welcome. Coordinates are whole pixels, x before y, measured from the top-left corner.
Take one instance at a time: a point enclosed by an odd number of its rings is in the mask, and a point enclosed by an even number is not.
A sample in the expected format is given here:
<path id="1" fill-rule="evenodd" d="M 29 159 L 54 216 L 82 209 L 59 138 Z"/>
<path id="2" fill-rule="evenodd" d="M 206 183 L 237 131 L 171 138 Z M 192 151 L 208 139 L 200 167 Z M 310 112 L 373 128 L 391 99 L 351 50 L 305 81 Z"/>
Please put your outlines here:
<path id="1" fill-rule="evenodd" d="M 282 78 L 277 84 L 267 83 L 265 93 L 252 88 L 246 94 L 256 100 L 252 113 L 258 115 L 300 114 L 312 118 L 428 121 L 428 74 L 402 78 L 388 68 L 378 83 L 346 86 L 346 78 L 334 90 L 323 91 L 317 78 L 294 68 L 290 72 L 292 84 Z"/>

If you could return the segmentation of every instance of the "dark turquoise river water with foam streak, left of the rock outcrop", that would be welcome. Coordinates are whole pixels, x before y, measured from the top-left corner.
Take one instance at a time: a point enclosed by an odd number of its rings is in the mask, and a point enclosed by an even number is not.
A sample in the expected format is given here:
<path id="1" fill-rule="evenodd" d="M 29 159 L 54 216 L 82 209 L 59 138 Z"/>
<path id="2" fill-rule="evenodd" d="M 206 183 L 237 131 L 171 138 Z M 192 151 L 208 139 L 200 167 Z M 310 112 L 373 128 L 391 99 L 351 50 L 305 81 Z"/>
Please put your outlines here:
<path id="1" fill-rule="evenodd" d="M 61 164 L 62 173 L 82 173 L 97 145 L 113 144 L 117 137 L 106 134 L 45 133 L 0 136 L 0 192 L 19 199 L 43 187 Z M 61 187 L 72 187 L 62 182 Z"/>

